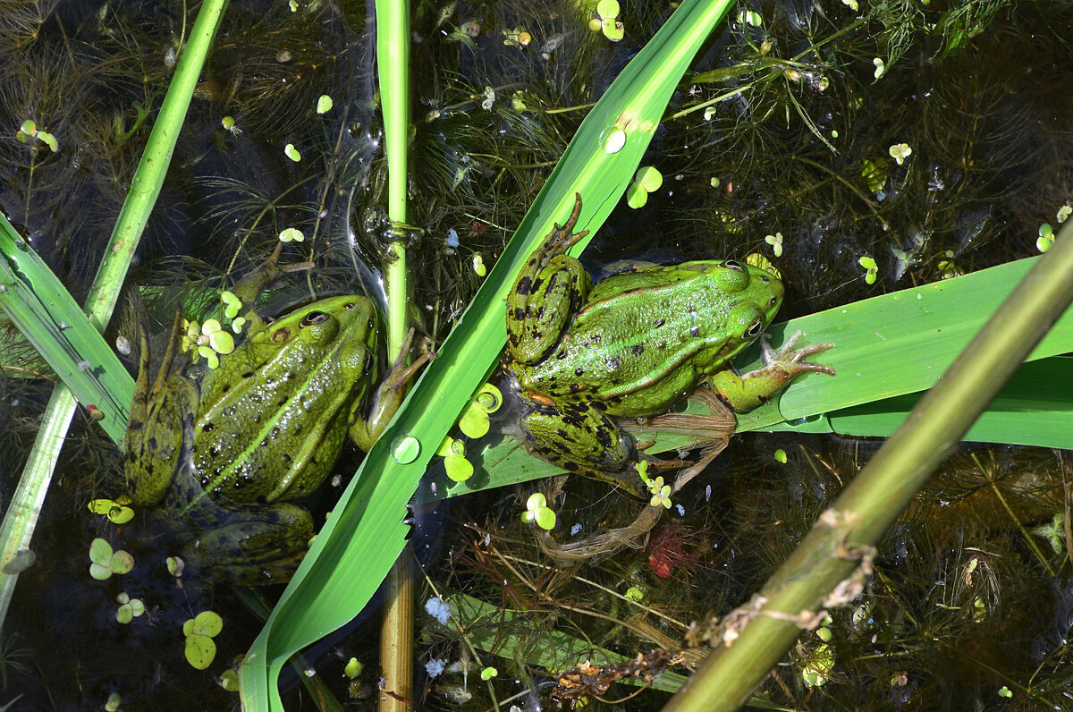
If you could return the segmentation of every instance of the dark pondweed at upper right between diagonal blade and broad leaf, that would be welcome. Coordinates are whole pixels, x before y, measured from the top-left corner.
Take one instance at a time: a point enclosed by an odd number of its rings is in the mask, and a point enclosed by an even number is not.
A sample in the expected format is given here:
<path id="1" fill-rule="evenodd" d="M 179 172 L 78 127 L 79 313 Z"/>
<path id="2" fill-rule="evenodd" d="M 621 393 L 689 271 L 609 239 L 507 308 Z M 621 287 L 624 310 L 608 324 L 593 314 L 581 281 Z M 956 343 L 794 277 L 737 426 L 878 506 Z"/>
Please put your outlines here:
<path id="1" fill-rule="evenodd" d="M 1053 18 L 903 4 L 863 16 L 761 5 L 760 27 L 732 23 L 653 142 L 662 194 L 616 242 L 636 234 L 694 258 L 762 251 L 787 276 L 788 306 L 806 297 L 806 310 L 876 289 L 862 257 L 897 289 L 1034 253 L 1039 222 L 1070 197 L 1054 177 L 1073 169 L 1057 150 L 1070 112 L 1044 59 L 1069 54 Z M 895 10 L 909 14 L 897 28 Z M 1028 67 L 1043 78 L 1026 82 Z M 912 152 L 899 163 L 900 145 Z"/>

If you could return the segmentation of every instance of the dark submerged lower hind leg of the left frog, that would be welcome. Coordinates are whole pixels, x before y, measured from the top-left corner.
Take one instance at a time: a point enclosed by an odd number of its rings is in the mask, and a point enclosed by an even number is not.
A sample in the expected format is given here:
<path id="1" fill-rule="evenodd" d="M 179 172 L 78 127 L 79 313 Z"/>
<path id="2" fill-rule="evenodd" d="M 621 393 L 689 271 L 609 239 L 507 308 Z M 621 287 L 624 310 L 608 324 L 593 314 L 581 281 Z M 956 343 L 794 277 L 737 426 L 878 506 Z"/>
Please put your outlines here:
<path id="1" fill-rule="evenodd" d="M 193 571 L 236 585 L 289 581 L 313 536 L 309 512 L 289 503 L 220 509 L 226 523 L 203 532 L 182 550 Z"/>

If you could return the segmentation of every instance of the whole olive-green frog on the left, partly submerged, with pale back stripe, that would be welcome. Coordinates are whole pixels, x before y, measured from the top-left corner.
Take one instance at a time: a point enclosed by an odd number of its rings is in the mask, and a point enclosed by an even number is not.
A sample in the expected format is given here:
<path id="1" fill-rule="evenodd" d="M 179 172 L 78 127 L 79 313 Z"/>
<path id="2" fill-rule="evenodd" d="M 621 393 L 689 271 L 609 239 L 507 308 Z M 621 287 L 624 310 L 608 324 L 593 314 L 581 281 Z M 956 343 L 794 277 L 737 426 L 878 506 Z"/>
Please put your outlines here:
<path id="1" fill-rule="evenodd" d="M 232 291 L 252 304 L 279 276 L 278 257 Z M 255 585 L 290 579 L 313 536 L 298 500 L 320 488 L 348 437 L 368 451 L 429 357 L 405 366 L 400 355 L 381 382 L 383 331 L 364 296 L 322 299 L 270 322 L 245 317 L 245 343 L 197 372 L 177 353 L 176 314 L 151 384 L 142 331 L 124 467 L 133 503 L 159 508 L 187 541 L 189 565 Z"/>

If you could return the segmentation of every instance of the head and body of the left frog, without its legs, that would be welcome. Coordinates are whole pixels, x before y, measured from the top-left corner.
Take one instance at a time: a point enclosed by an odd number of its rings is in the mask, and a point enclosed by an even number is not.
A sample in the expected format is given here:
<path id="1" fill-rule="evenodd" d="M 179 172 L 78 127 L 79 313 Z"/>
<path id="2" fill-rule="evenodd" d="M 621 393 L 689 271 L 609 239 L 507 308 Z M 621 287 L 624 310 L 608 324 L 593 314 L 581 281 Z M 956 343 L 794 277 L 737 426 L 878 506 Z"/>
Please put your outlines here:
<path id="1" fill-rule="evenodd" d="M 214 496 L 302 497 L 335 464 L 376 380 L 380 330 L 369 300 L 333 299 L 352 306 L 322 301 L 269 324 L 202 381 L 193 456 Z"/>

